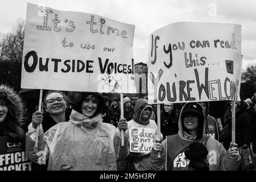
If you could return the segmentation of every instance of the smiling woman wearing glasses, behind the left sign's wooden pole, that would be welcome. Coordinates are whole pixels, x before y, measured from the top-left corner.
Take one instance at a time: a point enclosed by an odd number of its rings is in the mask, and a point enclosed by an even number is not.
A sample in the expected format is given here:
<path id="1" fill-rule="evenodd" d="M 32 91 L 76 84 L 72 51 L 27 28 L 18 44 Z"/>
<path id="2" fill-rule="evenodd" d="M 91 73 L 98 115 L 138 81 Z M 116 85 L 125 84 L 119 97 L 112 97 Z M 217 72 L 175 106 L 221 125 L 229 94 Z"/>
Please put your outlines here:
<path id="1" fill-rule="evenodd" d="M 35 111 L 32 115 L 32 127 L 36 128 L 42 121 L 43 131 L 47 131 L 57 123 L 69 121 L 72 109 L 68 108 L 66 103 L 67 96 L 63 92 L 48 91 L 44 97 L 46 113 Z"/>

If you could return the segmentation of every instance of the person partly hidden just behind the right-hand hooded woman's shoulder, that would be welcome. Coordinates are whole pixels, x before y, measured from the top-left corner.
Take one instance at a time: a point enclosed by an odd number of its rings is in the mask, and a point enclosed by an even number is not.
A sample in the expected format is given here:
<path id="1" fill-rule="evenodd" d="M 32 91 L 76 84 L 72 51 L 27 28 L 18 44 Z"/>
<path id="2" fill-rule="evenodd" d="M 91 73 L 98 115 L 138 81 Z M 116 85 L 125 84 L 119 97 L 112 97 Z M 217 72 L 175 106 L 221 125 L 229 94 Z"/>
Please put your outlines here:
<path id="1" fill-rule="evenodd" d="M 210 104 L 209 102 L 199 102 L 204 109 L 205 114 L 205 134 L 216 140 L 219 139 L 220 125 L 218 125 L 216 119 L 209 115 Z"/>

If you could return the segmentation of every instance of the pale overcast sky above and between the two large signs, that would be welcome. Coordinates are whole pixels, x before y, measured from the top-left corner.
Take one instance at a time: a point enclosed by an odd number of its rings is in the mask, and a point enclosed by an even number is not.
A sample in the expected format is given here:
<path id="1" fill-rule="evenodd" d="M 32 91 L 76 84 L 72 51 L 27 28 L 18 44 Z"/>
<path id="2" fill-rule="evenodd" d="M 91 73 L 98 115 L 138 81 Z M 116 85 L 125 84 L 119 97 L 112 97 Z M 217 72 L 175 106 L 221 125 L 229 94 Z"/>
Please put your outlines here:
<path id="1" fill-rule="evenodd" d="M 27 2 L 63 11 L 92 13 L 135 25 L 134 60 L 147 63 L 149 35 L 175 22 L 215 22 L 242 25 L 242 68 L 256 64 L 255 0 L 1 0 L 0 32 L 26 19 Z"/>

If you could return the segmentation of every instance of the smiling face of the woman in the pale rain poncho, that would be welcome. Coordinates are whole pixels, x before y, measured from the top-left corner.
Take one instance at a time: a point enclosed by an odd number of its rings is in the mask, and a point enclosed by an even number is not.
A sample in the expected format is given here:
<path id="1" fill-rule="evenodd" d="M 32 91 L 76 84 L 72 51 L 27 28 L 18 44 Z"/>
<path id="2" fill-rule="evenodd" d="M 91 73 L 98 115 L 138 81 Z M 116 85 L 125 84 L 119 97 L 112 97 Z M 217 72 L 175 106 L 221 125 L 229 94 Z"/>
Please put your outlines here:
<path id="1" fill-rule="evenodd" d="M 85 100 L 82 101 L 81 104 L 82 114 L 84 114 L 88 118 L 92 118 L 97 110 L 97 100 L 96 97 L 93 95 L 88 95 L 86 97 L 87 98 L 85 98 Z M 90 97 L 94 99 L 90 99 Z"/>

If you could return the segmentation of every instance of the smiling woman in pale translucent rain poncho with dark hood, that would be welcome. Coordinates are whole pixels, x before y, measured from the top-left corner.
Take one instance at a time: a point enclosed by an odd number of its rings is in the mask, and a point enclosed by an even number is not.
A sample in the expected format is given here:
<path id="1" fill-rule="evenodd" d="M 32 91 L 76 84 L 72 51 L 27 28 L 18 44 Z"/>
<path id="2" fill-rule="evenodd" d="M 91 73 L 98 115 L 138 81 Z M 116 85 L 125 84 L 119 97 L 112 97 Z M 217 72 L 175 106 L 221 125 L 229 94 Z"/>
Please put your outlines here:
<path id="1" fill-rule="evenodd" d="M 118 129 L 102 122 L 105 101 L 100 93 L 78 93 L 69 122 L 60 122 L 43 133 L 39 130 L 38 150 L 48 159 L 48 171 L 113 171 L 117 162 L 129 152 L 127 123 L 120 119 Z M 38 122 L 41 123 L 41 122 Z M 121 147 L 121 130 L 125 145 Z M 34 151 L 35 132 L 32 123 L 26 133 L 28 159 L 38 162 Z"/>

